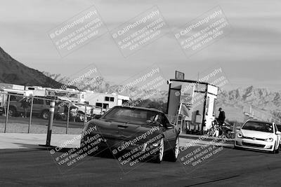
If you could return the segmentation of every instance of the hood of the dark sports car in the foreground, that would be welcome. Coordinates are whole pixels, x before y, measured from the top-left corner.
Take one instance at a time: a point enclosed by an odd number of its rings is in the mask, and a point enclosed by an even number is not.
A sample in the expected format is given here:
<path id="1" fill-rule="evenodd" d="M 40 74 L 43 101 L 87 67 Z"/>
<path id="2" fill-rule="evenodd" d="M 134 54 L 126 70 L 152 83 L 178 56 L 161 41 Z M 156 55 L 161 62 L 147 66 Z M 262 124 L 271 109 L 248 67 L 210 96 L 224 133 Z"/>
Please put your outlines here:
<path id="1" fill-rule="evenodd" d="M 151 139 L 158 134 L 162 134 L 162 127 L 144 123 L 142 125 L 137 123 L 121 123 L 112 120 L 91 120 L 90 124 L 96 126 L 97 132 L 103 137 L 112 139 L 126 139 L 131 140 L 136 137 L 141 137 L 140 141 Z M 143 135 L 144 134 L 144 135 Z"/>

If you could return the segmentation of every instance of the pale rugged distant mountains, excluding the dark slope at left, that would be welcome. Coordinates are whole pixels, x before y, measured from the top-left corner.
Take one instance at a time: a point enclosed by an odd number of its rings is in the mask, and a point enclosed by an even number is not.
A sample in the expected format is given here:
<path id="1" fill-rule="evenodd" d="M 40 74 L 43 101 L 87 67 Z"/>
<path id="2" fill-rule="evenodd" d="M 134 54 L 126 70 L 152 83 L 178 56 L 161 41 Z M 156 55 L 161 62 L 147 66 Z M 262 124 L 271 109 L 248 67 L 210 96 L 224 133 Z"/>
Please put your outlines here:
<path id="1" fill-rule="evenodd" d="M 48 74 L 47 76 L 55 79 L 55 81 L 67 80 L 67 78 L 60 74 Z M 104 82 L 100 86 L 100 92 L 110 92 L 114 88 L 118 88 L 119 85 Z M 166 111 L 166 102 L 168 98 L 168 90 L 162 90 L 157 95 L 150 97 L 148 101 L 143 102 L 143 106 L 155 106 L 159 107 L 163 111 Z M 281 92 L 271 91 L 267 88 L 254 88 L 249 86 L 246 88 L 237 88 L 234 90 L 223 90 L 218 95 L 218 107 L 222 107 L 229 120 L 242 122 L 244 121 L 243 107 L 250 105 L 253 108 L 266 113 L 267 115 L 273 115 L 281 118 Z"/>

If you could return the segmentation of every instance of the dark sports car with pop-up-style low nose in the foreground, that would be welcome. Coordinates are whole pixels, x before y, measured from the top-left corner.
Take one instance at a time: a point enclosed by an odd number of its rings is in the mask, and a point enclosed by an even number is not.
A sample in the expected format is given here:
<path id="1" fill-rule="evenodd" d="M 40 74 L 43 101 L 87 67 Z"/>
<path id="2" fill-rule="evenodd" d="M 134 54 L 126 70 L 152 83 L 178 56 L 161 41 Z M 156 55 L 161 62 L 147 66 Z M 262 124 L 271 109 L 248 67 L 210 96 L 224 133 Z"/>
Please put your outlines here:
<path id="1" fill-rule="evenodd" d="M 86 123 L 80 147 L 91 144 L 97 145 L 99 151 L 109 148 L 116 157 L 122 155 L 120 160 L 131 162 L 148 159 L 162 162 L 163 158 L 176 162 L 178 134 L 178 127 L 169 123 L 162 111 L 115 106 L 101 118 Z"/>

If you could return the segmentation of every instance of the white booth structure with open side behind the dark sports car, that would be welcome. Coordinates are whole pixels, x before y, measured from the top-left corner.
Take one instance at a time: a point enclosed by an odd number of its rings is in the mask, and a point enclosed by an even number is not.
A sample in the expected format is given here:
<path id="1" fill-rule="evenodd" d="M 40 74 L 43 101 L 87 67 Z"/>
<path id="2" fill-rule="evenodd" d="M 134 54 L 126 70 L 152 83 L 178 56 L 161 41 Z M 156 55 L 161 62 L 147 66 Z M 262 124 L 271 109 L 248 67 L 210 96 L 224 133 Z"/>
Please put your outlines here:
<path id="1" fill-rule="evenodd" d="M 204 134 L 216 114 L 218 87 L 185 79 L 170 79 L 168 118 L 181 126 L 182 133 Z"/>

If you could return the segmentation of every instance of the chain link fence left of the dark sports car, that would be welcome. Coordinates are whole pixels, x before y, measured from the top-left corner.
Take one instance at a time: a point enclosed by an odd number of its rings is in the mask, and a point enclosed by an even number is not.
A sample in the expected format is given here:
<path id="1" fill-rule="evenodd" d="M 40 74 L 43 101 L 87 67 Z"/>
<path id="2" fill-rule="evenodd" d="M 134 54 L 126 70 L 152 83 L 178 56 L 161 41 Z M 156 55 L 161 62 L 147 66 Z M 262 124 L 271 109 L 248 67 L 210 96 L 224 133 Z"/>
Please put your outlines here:
<path id="1" fill-rule="evenodd" d="M 46 133 L 51 98 L 0 92 L 0 132 Z M 86 103 L 55 99 L 53 133 L 80 134 L 86 121 L 107 111 Z M 86 117 L 85 117 L 86 116 Z"/>

